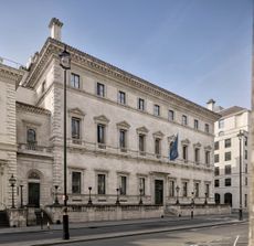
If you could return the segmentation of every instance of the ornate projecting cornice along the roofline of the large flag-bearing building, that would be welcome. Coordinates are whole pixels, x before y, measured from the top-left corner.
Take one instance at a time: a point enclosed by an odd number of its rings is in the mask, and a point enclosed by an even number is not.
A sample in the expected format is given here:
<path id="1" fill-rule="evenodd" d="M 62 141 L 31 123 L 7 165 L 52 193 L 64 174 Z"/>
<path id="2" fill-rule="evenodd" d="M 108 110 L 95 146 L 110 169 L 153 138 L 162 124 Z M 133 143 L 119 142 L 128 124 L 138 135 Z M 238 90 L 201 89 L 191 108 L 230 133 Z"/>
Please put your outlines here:
<path id="1" fill-rule="evenodd" d="M 43 69 L 46 60 L 52 55 L 56 57 L 60 54 L 60 52 L 63 51 L 64 45 L 65 45 L 64 43 L 51 38 L 46 40 L 45 44 L 43 45 L 39 54 L 39 58 L 36 63 L 34 63 L 31 67 L 31 72 L 25 83 L 27 86 L 33 87 L 35 85 L 36 77 Z M 130 86 L 141 92 L 149 93 L 154 96 L 163 98 L 170 103 L 174 101 L 176 105 L 181 105 L 182 107 L 188 108 L 188 110 L 192 110 L 195 114 L 198 113 L 201 114 L 202 116 L 207 116 L 212 121 L 216 121 L 221 117 L 216 113 L 213 113 L 167 89 L 163 89 L 155 84 L 151 84 L 150 82 L 137 77 L 126 71 L 123 71 L 109 63 L 103 62 L 102 60 L 98 60 L 87 53 L 81 52 L 77 49 L 74 49 L 70 45 L 66 45 L 66 47 L 67 51 L 71 53 L 73 63 L 82 64 L 86 68 L 89 68 L 97 73 L 102 73 L 104 76 L 108 75 L 118 81 L 120 79 L 123 83 L 126 84 L 126 86 Z"/>

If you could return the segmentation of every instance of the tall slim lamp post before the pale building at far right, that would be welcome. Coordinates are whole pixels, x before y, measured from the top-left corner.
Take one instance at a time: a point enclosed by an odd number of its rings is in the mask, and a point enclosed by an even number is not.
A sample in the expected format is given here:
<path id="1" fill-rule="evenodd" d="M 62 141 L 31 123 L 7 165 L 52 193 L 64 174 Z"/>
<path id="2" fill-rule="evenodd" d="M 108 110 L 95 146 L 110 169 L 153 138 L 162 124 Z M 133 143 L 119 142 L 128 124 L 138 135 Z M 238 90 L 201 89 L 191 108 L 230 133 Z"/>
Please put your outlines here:
<path id="1" fill-rule="evenodd" d="M 243 207 L 242 207 L 242 139 L 244 132 L 240 130 L 237 133 L 239 137 L 239 221 L 243 220 Z"/>

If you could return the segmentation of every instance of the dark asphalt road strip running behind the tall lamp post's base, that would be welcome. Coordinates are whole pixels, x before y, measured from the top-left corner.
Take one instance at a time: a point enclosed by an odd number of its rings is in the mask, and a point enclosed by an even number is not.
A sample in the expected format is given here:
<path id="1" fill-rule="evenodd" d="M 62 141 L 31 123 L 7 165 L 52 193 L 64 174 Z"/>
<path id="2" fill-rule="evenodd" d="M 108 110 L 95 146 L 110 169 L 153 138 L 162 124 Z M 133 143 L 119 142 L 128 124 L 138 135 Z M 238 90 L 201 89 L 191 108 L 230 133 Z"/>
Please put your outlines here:
<path id="1" fill-rule="evenodd" d="M 154 223 L 142 222 L 138 224 L 125 224 L 125 225 L 107 225 L 98 227 L 83 227 L 70 229 L 71 237 L 78 237 L 85 235 L 96 235 L 96 234 L 107 234 L 107 233 L 119 233 L 119 232 L 131 232 L 131 231 L 144 231 L 151 228 L 165 228 L 177 225 L 198 225 L 204 222 L 219 222 L 225 218 L 218 217 L 195 217 L 190 218 L 176 218 L 174 221 L 161 218 Z M 22 233 L 10 233 L 0 234 L 0 245 L 17 242 L 29 242 L 29 240 L 41 240 L 41 239 L 52 239 L 62 238 L 62 231 L 42 231 L 42 232 L 22 232 Z"/>

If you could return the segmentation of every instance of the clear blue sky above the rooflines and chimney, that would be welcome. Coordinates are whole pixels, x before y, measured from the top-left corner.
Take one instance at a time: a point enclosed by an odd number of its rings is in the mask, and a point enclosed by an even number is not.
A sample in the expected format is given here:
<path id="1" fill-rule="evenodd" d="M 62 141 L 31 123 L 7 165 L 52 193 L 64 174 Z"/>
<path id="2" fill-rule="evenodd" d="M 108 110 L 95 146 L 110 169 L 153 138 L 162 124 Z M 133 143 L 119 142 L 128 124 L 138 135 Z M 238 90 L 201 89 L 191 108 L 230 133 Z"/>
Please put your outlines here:
<path id="1" fill-rule="evenodd" d="M 253 0 L 0 0 L 0 56 L 25 65 L 50 35 L 205 106 L 251 108 Z"/>

